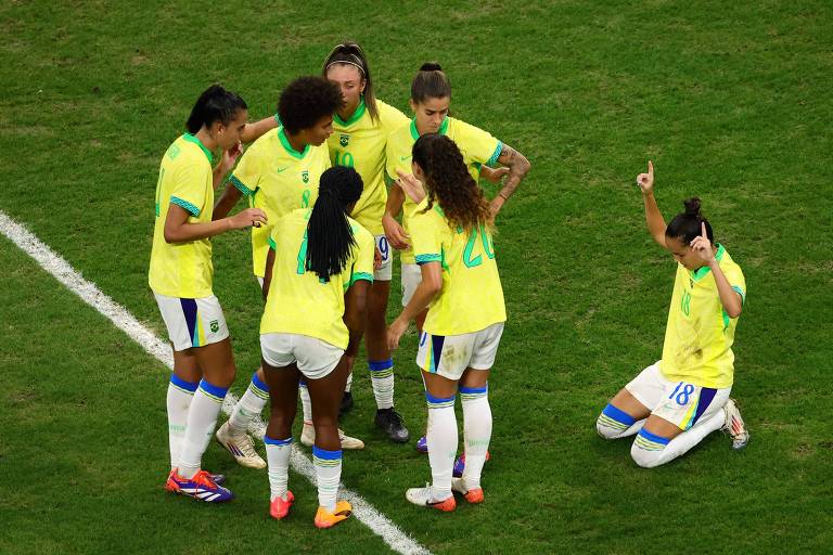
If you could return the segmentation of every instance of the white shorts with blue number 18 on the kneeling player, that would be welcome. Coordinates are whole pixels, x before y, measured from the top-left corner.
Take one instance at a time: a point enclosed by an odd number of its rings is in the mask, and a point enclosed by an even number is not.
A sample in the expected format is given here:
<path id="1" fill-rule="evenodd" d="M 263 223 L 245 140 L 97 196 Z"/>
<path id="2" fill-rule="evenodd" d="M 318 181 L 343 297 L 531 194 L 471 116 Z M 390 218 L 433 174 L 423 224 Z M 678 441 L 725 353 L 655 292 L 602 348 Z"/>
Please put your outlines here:
<path id="1" fill-rule="evenodd" d="M 685 431 L 721 411 L 731 387 L 712 389 L 685 382 L 669 382 L 655 362 L 639 373 L 625 389 L 655 414 Z"/>

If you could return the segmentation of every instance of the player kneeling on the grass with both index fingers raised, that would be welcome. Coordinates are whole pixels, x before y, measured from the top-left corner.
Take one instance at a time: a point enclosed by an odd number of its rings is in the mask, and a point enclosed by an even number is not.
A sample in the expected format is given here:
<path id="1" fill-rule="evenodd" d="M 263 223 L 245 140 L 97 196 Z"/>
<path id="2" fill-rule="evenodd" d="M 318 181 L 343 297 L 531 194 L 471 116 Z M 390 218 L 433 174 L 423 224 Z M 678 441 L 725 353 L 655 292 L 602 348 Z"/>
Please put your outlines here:
<path id="1" fill-rule="evenodd" d="M 636 434 L 630 453 L 646 468 L 672 461 L 718 429 L 731 436 L 734 449 L 742 449 L 749 434 L 729 393 L 734 330 L 746 297 L 743 272 L 714 242 L 699 198 L 685 201 L 685 211 L 666 227 L 654 199 L 652 163 L 637 183 L 651 235 L 674 255 L 677 276 L 662 360 L 616 393 L 597 429 L 607 439 Z"/>

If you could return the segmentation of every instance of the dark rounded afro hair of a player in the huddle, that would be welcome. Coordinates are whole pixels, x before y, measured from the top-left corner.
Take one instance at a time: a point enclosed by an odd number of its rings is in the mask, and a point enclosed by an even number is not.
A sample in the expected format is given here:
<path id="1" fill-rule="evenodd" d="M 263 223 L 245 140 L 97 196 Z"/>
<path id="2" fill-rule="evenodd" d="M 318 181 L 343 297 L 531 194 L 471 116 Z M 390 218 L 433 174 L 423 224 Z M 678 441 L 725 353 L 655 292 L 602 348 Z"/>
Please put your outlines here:
<path id="1" fill-rule="evenodd" d="M 323 77 L 299 77 L 283 89 L 278 116 L 290 134 L 315 126 L 344 104 L 338 87 Z"/>

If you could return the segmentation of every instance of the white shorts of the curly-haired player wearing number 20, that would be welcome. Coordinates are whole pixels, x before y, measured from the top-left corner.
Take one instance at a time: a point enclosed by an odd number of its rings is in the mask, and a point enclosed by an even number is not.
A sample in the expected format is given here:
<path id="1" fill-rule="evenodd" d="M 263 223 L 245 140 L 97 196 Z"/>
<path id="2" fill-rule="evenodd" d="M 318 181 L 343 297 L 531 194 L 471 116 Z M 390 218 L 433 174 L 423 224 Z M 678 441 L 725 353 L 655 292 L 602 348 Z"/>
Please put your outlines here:
<path id="1" fill-rule="evenodd" d="M 489 370 L 495 364 L 503 322 L 462 335 L 431 335 L 422 332 L 416 365 L 423 372 L 460 379 L 465 369 Z"/>

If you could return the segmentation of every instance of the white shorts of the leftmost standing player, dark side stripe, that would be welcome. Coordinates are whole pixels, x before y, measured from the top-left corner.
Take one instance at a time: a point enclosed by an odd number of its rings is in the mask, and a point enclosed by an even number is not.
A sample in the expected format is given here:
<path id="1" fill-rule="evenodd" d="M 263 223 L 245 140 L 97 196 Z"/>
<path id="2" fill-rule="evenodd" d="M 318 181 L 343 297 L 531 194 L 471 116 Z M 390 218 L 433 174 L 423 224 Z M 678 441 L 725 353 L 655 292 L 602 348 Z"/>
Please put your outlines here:
<path id="1" fill-rule="evenodd" d="M 204 347 L 229 336 L 229 326 L 217 297 L 183 299 L 153 294 L 175 351 Z"/>

